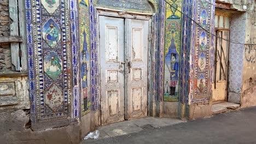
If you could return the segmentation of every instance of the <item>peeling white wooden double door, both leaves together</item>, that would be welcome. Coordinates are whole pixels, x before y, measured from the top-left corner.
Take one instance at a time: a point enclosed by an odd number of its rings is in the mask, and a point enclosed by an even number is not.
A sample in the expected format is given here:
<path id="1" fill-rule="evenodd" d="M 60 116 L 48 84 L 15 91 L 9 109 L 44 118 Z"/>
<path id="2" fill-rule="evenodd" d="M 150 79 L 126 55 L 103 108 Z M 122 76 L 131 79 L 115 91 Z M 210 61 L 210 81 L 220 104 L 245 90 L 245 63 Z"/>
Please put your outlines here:
<path id="1" fill-rule="evenodd" d="M 148 25 L 99 17 L 102 125 L 147 116 Z"/>

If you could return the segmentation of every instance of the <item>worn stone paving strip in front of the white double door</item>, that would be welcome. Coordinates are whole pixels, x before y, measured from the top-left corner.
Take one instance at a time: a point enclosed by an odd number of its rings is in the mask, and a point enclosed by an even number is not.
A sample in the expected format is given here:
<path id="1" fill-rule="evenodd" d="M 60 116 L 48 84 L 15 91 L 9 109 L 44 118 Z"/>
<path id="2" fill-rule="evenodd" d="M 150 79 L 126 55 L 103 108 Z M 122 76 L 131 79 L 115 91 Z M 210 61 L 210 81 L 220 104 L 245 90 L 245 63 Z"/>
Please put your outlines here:
<path id="1" fill-rule="evenodd" d="M 146 117 L 133 119 L 130 121 L 124 121 L 119 123 L 113 123 L 109 125 L 102 126 L 98 128 L 100 131 L 100 137 L 97 140 L 105 139 L 108 137 L 128 135 L 131 133 L 136 133 L 142 130 L 150 130 L 160 127 L 166 127 L 168 125 L 173 125 L 177 123 L 182 123 L 183 121 L 178 118 L 154 118 Z M 94 142 L 96 140 L 88 139 L 84 140 L 87 142 Z"/>

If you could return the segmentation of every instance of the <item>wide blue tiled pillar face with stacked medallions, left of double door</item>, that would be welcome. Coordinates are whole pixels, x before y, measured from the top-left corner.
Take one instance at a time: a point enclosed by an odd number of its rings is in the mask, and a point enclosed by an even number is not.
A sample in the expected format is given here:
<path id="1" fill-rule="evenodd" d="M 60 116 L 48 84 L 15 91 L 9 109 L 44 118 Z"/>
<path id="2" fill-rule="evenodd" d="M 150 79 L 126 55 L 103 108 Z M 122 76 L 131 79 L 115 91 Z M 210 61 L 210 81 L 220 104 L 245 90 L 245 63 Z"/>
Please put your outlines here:
<path id="1" fill-rule="evenodd" d="M 71 116 L 71 47 L 67 0 L 26 0 L 26 30 L 32 122 Z M 68 36 L 69 37 L 69 36 Z M 76 49 L 76 47 L 74 47 Z"/>

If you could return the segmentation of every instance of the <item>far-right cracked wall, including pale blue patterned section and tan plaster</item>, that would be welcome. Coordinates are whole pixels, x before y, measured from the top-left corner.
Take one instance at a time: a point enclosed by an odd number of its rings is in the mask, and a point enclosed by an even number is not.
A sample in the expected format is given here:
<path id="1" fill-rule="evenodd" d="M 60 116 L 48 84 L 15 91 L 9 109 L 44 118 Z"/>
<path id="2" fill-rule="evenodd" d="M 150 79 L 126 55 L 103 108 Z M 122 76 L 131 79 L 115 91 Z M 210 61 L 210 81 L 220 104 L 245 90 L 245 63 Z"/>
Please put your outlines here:
<path id="1" fill-rule="evenodd" d="M 238 13 L 231 15 L 228 101 L 241 107 L 255 106 L 256 12 L 254 0 L 218 0 Z"/>

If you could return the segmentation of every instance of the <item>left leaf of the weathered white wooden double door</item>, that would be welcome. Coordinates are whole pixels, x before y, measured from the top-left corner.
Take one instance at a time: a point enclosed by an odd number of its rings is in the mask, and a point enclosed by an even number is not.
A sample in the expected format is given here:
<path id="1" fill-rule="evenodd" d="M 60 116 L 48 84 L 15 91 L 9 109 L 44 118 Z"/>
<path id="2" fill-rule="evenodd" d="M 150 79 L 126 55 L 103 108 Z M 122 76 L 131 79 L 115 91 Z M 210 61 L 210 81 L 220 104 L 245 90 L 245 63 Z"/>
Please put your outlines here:
<path id="1" fill-rule="evenodd" d="M 124 19 L 100 17 L 101 124 L 124 121 Z"/>

